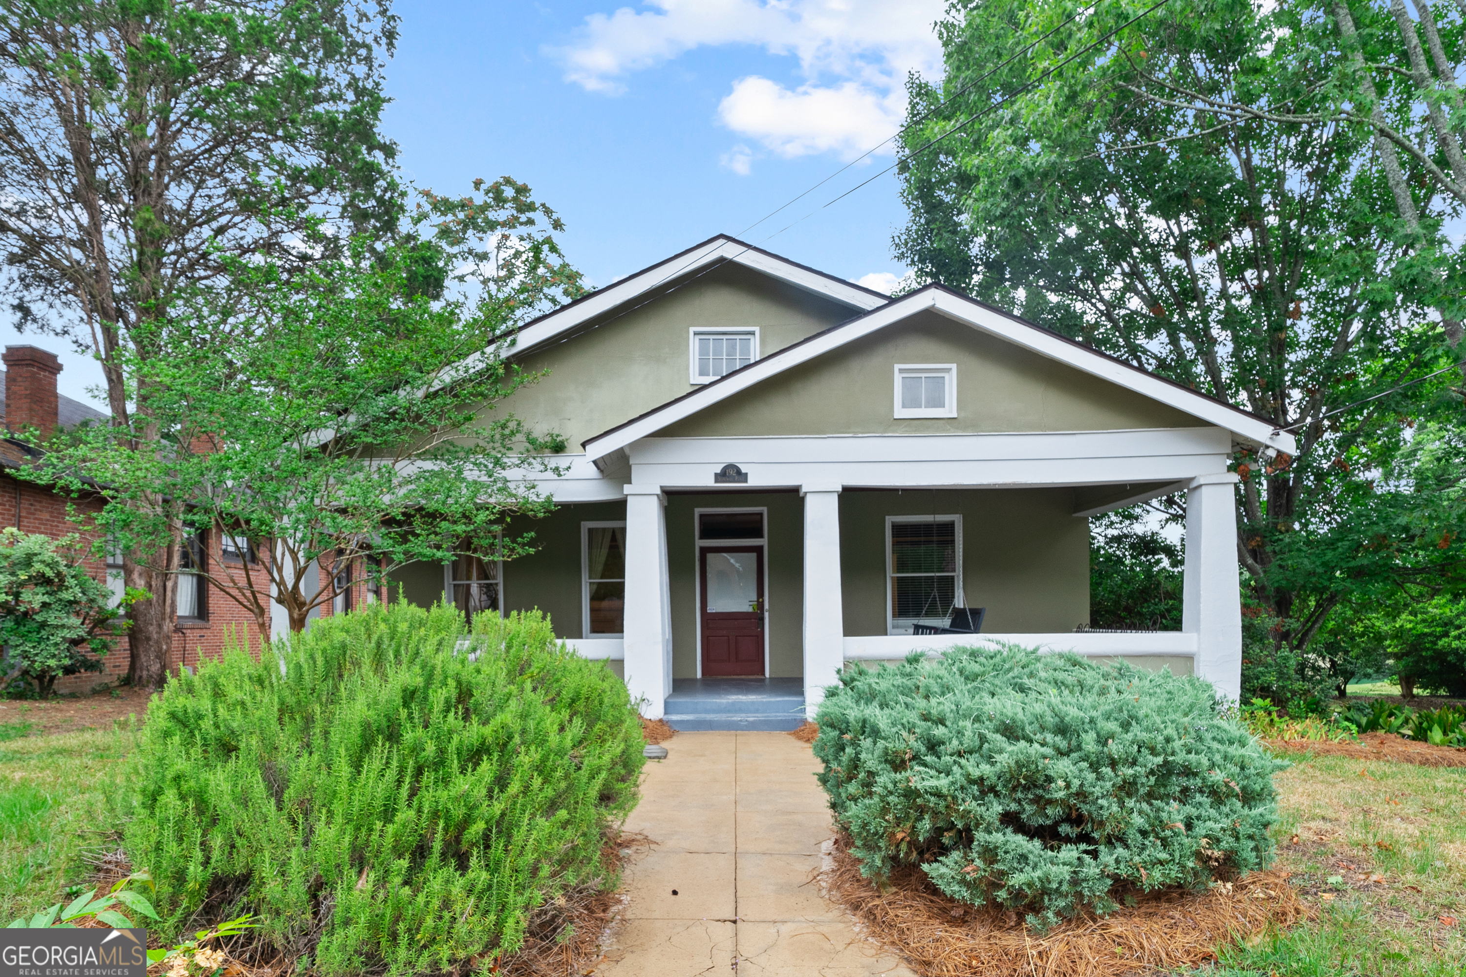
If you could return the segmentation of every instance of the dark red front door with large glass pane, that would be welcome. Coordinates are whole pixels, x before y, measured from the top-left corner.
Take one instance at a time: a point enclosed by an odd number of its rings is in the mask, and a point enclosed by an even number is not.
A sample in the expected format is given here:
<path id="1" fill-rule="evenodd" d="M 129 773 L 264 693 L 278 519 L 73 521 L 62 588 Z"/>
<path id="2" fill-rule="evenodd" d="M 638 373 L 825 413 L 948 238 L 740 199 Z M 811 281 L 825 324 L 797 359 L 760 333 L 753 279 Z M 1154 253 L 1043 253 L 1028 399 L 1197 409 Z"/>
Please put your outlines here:
<path id="1" fill-rule="evenodd" d="M 705 546 L 699 558 L 702 674 L 764 674 L 764 548 Z"/>

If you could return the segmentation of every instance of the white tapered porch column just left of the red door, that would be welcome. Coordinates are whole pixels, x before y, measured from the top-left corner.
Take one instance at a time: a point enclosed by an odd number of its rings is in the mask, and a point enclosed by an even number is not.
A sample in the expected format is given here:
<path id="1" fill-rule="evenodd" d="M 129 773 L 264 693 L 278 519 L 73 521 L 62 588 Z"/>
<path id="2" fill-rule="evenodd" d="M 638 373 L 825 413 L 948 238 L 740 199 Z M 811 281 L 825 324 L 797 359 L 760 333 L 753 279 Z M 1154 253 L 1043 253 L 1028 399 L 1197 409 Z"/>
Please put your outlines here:
<path id="1" fill-rule="evenodd" d="M 671 599 L 667 582 L 667 497 L 660 485 L 627 485 L 625 668 L 632 702 L 661 719 L 671 693 Z"/>

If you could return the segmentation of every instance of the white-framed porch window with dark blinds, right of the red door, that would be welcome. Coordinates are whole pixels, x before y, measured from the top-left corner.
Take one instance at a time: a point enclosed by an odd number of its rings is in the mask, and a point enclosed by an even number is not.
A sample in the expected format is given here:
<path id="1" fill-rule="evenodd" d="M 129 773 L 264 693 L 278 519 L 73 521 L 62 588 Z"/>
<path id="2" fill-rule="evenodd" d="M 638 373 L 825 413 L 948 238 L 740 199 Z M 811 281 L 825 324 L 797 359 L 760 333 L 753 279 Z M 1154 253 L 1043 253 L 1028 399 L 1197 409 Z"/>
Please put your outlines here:
<path id="1" fill-rule="evenodd" d="M 887 516 L 890 634 L 946 625 L 962 593 L 962 516 Z"/>

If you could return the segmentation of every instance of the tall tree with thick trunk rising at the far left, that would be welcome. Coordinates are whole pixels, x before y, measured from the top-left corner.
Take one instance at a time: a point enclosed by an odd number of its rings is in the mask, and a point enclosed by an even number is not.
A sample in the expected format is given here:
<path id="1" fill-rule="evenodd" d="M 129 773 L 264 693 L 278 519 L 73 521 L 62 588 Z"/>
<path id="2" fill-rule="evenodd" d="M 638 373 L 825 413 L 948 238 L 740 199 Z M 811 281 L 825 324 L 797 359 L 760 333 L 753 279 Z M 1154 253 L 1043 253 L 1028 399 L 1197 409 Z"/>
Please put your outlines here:
<path id="1" fill-rule="evenodd" d="M 101 360 L 139 448 L 164 425 L 126 363 L 233 341 L 227 318 L 177 334 L 180 294 L 227 258 L 312 258 L 295 246 L 311 215 L 396 229 L 396 148 L 378 132 L 396 35 L 386 0 L 0 0 L 0 284 L 23 328 Z M 154 492 L 129 504 L 170 524 L 123 552 L 128 584 L 152 595 L 130 611 L 130 678 L 157 686 L 182 510 Z"/>

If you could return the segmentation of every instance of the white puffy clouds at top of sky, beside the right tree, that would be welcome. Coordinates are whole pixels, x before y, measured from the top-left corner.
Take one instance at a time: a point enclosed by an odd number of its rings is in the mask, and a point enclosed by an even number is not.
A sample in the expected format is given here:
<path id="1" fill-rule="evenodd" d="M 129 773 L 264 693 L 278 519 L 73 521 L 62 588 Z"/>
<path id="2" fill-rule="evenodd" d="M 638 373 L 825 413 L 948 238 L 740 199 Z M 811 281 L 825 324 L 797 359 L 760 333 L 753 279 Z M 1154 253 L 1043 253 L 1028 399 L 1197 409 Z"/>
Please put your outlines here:
<path id="1" fill-rule="evenodd" d="M 645 7 L 592 13 L 569 44 L 547 53 L 566 81 L 607 94 L 625 91 L 627 75 L 698 47 L 748 44 L 798 57 L 802 85 L 746 76 L 718 107 L 723 125 L 781 157 L 853 158 L 896 132 L 907 72 L 941 72 L 932 23 L 944 0 L 648 0 Z M 724 166 L 739 171 L 729 163 L 736 158 L 737 148 Z"/>

